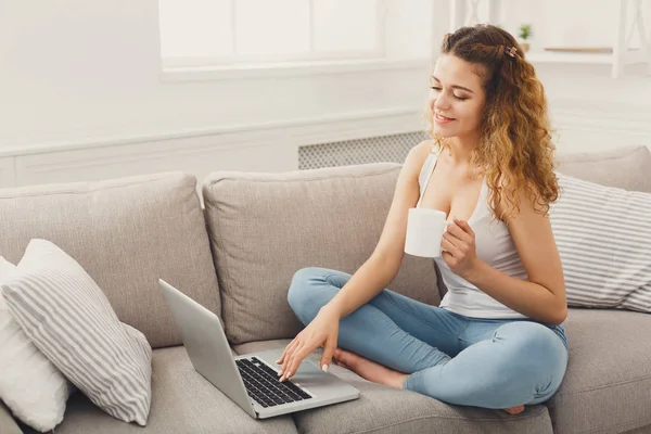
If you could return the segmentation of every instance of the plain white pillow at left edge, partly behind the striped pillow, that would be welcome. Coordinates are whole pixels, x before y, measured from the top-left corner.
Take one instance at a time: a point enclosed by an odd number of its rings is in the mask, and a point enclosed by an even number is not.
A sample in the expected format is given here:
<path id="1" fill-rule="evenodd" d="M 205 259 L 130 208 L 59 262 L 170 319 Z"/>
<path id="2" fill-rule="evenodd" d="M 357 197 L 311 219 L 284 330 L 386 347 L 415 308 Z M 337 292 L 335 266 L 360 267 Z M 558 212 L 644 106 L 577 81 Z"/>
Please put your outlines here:
<path id="1" fill-rule="evenodd" d="M 0 256 L 0 283 L 15 270 Z M 59 369 L 29 341 L 0 294 L 0 399 L 14 417 L 41 431 L 61 423 L 74 390 Z"/>

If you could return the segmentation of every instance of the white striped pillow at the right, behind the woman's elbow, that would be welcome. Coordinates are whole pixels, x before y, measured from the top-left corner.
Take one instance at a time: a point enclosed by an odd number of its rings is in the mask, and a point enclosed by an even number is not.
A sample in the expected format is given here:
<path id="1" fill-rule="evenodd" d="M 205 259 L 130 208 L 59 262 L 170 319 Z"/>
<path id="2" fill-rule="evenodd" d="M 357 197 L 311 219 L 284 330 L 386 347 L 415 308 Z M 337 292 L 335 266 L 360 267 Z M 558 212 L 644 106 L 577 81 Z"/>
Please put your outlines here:
<path id="1" fill-rule="evenodd" d="M 567 305 L 651 312 L 651 194 L 557 175 L 550 221 Z"/>

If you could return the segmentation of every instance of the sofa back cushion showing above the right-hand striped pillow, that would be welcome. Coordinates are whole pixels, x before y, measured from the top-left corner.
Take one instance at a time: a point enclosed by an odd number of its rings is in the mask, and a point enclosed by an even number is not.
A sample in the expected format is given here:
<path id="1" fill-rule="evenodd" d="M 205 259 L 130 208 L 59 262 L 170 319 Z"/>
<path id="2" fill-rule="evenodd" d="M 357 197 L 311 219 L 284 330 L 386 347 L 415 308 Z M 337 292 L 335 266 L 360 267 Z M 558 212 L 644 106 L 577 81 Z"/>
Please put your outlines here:
<path id="1" fill-rule="evenodd" d="M 623 146 L 613 151 L 561 153 L 561 174 L 608 187 L 651 193 L 651 152 L 647 146 Z"/>

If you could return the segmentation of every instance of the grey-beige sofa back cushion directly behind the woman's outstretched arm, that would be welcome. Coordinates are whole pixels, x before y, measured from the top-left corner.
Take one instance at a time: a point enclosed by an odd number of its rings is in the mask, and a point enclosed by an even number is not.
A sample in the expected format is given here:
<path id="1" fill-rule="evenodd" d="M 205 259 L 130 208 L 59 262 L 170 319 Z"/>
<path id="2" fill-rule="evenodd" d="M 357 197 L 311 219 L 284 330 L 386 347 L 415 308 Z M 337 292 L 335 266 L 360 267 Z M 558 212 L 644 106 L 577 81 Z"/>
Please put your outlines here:
<path id="1" fill-rule="evenodd" d="M 317 266 L 355 272 L 380 239 L 400 166 L 394 163 L 282 174 L 215 173 L 204 203 L 233 343 L 292 337 L 292 276 Z M 391 289 L 438 304 L 433 260 L 405 256 Z"/>

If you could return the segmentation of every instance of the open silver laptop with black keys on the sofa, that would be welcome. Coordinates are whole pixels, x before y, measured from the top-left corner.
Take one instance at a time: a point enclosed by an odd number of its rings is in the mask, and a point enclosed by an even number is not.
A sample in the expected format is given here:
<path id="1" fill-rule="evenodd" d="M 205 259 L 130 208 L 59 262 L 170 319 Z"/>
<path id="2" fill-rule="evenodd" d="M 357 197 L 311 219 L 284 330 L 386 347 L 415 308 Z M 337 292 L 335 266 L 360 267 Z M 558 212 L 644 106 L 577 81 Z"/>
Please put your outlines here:
<path id="1" fill-rule="evenodd" d="M 194 369 L 252 418 L 357 399 L 359 391 L 326 373 L 309 358 L 291 380 L 279 381 L 276 360 L 284 348 L 233 356 L 215 314 L 158 279 Z"/>

